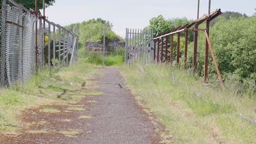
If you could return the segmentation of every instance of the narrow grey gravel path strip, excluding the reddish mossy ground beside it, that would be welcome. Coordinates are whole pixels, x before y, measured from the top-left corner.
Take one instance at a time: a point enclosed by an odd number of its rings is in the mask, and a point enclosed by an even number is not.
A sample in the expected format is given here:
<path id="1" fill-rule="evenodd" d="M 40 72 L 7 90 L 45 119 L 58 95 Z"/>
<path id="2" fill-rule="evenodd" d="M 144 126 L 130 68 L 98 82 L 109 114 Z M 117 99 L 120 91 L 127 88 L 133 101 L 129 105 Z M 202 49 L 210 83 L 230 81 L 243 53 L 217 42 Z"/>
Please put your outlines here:
<path id="1" fill-rule="evenodd" d="M 93 116 L 86 129 L 91 133 L 78 143 L 159 143 L 146 113 L 137 106 L 134 97 L 125 89 L 118 69 L 102 70 L 98 91 L 104 95 L 95 97 L 97 103 L 88 107 Z"/>

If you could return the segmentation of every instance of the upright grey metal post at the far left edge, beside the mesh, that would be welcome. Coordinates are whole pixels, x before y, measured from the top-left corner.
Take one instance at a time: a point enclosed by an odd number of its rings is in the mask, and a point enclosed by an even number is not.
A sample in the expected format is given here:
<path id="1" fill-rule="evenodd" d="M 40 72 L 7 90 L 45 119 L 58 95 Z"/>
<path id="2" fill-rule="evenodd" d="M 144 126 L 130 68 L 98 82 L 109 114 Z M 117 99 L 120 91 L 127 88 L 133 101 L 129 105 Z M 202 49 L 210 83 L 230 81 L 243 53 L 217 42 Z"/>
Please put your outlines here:
<path id="1" fill-rule="evenodd" d="M 6 33 L 6 2 L 2 0 L 2 27 L 1 27 L 1 87 L 4 87 L 5 83 L 5 33 Z"/>

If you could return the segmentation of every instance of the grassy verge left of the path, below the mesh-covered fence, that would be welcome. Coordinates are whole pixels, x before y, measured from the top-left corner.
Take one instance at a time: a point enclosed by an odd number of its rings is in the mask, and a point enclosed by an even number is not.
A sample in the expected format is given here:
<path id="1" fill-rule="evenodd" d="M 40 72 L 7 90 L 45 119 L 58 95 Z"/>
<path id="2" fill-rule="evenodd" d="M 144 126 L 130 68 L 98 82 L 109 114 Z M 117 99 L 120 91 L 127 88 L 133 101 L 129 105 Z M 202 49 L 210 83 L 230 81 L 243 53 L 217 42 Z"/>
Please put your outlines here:
<path id="1" fill-rule="evenodd" d="M 79 60 L 72 67 L 62 68 L 56 74 L 48 70 L 40 71 L 33 74 L 25 85 L 17 82 L 14 86 L 0 89 L 0 133 L 22 127 L 18 119 L 22 110 L 39 105 L 63 105 L 67 100 L 75 102 L 82 98 L 88 92 L 78 91 L 81 86 L 94 88 L 89 81 L 95 74 L 92 67 L 84 60 Z"/>

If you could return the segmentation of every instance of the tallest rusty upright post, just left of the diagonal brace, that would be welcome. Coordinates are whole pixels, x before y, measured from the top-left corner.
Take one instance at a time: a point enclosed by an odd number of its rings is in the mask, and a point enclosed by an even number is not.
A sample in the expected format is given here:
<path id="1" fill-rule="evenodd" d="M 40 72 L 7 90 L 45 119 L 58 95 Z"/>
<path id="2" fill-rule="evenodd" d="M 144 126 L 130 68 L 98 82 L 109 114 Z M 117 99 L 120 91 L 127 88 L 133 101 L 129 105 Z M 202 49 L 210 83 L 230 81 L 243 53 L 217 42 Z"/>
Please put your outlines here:
<path id="1" fill-rule="evenodd" d="M 210 20 L 206 21 L 206 29 L 207 35 L 209 35 L 210 31 Z M 209 45 L 207 43 L 207 39 L 205 40 L 205 73 L 203 76 L 203 80 L 206 82 L 208 77 L 208 53 L 209 53 Z"/>

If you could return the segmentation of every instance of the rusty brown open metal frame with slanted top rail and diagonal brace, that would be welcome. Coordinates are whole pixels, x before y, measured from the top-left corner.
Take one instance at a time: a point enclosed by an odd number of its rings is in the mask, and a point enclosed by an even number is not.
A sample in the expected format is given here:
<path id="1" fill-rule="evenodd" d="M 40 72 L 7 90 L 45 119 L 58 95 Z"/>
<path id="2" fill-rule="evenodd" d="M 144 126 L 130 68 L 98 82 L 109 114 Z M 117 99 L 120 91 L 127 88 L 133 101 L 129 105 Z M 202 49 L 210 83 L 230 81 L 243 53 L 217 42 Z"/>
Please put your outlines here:
<path id="1" fill-rule="evenodd" d="M 167 59 L 167 56 L 170 57 L 170 64 L 172 65 L 173 60 L 175 59 L 173 57 L 173 37 L 174 34 L 177 35 L 177 48 L 176 48 L 176 65 L 179 65 L 179 59 L 180 59 L 180 38 L 181 38 L 181 32 L 185 33 L 185 45 L 184 45 L 184 68 L 186 68 L 187 66 L 187 56 L 188 56 L 188 32 L 190 30 L 194 31 L 194 53 L 193 53 L 193 71 L 195 73 L 196 71 L 196 67 L 197 67 L 197 37 L 198 37 L 198 32 L 199 31 L 203 31 L 205 32 L 205 38 L 206 38 L 206 44 L 205 44 L 205 75 L 204 75 L 204 80 L 206 82 L 207 80 L 207 74 L 208 74 L 208 49 L 210 47 L 211 50 L 211 56 L 213 58 L 214 61 L 214 65 L 219 77 L 219 81 L 221 83 L 221 85 L 223 85 L 222 82 L 222 77 L 220 76 L 219 73 L 219 69 L 218 69 L 218 65 L 217 62 L 214 58 L 213 55 L 213 51 L 212 51 L 212 47 L 210 44 L 210 40 L 208 38 L 209 35 L 209 31 L 210 31 L 210 21 L 215 19 L 217 16 L 219 16 L 220 14 L 222 14 L 222 12 L 220 11 L 220 9 L 214 10 L 212 11 L 212 13 L 207 14 L 207 15 L 203 15 L 200 19 L 195 20 L 192 23 L 187 23 L 184 26 L 179 26 L 176 27 L 174 29 L 171 29 L 170 31 L 161 33 L 156 35 L 155 38 L 153 38 L 154 40 L 154 61 L 156 61 L 157 63 L 159 62 L 167 62 L 164 61 L 165 59 Z M 201 25 L 201 23 L 206 21 L 206 29 L 198 29 L 199 25 Z M 192 26 L 195 26 L 193 29 L 190 29 Z M 171 41 L 170 44 L 168 44 L 168 39 L 169 36 L 171 37 Z M 161 44 L 161 46 L 160 46 Z M 170 54 L 168 54 L 168 45 L 170 45 Z M 163 53 L 163 51 L 165 50 L 165 53 Z"/>

